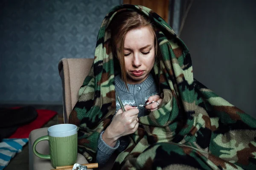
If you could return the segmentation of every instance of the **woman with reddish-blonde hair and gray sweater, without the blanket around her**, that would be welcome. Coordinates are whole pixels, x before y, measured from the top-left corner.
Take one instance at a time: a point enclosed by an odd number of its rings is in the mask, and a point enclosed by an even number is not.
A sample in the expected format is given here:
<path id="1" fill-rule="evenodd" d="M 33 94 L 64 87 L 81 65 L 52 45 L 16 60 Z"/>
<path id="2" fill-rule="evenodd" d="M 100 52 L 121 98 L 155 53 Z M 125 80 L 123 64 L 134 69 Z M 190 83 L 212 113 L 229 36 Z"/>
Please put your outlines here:
<path id="1" fill-rule="evenodd" d="M 155 95 L 159 88 L 151 73 L 157 58 L 157 39 L 149 18 L 136 11 L 124 11 L 114 16 L 110 30 L 114 59 L 118 59 L 122 66 L 114 78 L 115 89 L 126 111 L 120 109 L 116 100 L 117 112 L 99 137 L 96 156 L 99 165 L 105 164 L 116 149 L 124 150 L 128 146 L 127 138 L 119 139 L 134 133 L 139 127 L 138 118 L 147 115 L 147 109 L 156 110 L 162 101 L 159 95 Z M 145 108 L 133 107 L 140 105 L 145 105 Z"/>

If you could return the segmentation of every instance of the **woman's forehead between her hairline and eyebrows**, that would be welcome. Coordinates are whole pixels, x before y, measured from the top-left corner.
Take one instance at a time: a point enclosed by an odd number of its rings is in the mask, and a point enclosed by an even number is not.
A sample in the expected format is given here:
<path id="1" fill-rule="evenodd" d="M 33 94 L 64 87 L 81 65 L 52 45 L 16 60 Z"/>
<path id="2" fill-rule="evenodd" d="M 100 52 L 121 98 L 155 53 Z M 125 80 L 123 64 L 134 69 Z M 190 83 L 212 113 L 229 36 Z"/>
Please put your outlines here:
<path id="1" fill-rule="evenodd" d="M 148 26 L 132 29 L 125 35 L 125 48 L 137 49 L 148 44 L 154 45 L 154 33 Z"/>

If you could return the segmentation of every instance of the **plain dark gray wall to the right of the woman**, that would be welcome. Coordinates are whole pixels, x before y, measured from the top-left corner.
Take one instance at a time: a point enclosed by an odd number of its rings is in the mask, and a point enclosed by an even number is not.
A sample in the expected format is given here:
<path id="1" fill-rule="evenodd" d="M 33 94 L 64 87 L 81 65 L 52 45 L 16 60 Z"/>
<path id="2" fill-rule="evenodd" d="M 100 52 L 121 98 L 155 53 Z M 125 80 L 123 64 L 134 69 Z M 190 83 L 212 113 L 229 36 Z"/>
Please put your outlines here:
<path id="1" fill-rule="evenodd" d="M 256 117 L 256 1 L 194 0 L 181 38 L 194 77 Z"/>

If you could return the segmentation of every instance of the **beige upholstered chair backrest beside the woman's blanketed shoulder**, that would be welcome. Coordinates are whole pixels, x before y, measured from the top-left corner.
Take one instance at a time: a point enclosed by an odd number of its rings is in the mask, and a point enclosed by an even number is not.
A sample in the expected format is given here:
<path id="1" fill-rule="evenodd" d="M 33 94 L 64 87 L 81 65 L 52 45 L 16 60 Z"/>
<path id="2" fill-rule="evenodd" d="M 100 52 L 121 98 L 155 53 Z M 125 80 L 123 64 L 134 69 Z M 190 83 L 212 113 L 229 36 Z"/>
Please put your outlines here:
<path id="1" fill-rule="evenodd" d="M 78 100 L 78 92 L 89 74 L 94 59 L 63 58 L 58 64 L 62 82 L 63 117 L 68 123 L 69 115 Z"/>

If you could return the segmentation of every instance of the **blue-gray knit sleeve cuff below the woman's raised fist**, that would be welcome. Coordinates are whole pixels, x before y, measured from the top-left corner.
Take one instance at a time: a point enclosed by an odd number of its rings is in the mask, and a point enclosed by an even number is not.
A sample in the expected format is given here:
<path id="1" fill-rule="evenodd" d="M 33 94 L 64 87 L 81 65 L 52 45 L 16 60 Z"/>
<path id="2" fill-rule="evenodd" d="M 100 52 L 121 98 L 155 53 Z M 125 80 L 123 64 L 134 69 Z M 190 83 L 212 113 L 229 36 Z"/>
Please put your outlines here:
<path id="1" fill-rule="evenodd" d="M 97 154 L 96 154 L 96 162 L 99 164 L 99 167 L 107 163 L 108 159 L 111 157 L 113 152 L 120 145 L 119 139 L 117 140 L 115 147 L 111 147 L 108 144 L 106 144 L 104 142 L 104 140 L 102 139 L 102 134 L 103 133 L 104 133 L 104 131 L 102 131 L 102 133 L 99 136 L 98 151 L 97 151 Z"/>

